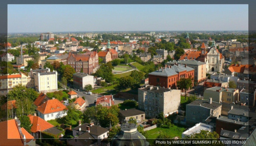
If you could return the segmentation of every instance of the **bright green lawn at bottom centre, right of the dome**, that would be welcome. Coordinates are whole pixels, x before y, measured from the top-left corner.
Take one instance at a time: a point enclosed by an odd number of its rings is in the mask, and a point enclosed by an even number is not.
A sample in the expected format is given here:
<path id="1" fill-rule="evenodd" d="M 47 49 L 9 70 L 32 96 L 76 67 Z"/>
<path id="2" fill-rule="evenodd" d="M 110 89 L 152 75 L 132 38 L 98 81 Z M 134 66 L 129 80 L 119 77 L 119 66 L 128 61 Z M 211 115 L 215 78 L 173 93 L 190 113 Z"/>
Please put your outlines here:
<path id="1" fill-rule="evenodd" d="M 176 137 L 176 136 L 181 138 L 181 134 L 185 130 L 186 130 L 185 127 L 180 127 L 180 126 L 176 126 L 176 125 L 173 125 L 173 127 L 170 127 L 170 128 L 155 128 L 152 130 L 148 130 L 147 131 L 147 133 L 148 133 L 147 141 L 150 142 L 151 145 L 154 145 L 154 140 L 157 138 L 157 136 L 160 135 L 160 133 L 164 133 L 165 135 L 168 135 L 172 138 Z"/>

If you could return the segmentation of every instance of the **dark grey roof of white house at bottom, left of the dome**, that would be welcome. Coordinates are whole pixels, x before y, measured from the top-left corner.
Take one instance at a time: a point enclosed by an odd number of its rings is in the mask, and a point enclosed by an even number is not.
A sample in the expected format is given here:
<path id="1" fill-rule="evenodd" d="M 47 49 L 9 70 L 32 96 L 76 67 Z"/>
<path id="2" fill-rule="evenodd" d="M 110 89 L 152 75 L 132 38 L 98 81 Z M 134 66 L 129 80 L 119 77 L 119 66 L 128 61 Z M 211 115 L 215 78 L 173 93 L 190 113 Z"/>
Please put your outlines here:
<path id="1" fill-rule="evenodd" d="M 79 131 L 79 128 L 81 128 L 81 131 L 86 131 L 87 126 L 90 126 L 90 124 L 84 123 L 80 126 L 75 127 L 74 129 Z M 109 130 L 106 128 L 102 128 L 102 127 L 95 126 L 95 125 L 90 127 L 90 134 L 97 135 L 97 136 L 99 136 L 105 132 L 108 132 L 108 131 Z"/>

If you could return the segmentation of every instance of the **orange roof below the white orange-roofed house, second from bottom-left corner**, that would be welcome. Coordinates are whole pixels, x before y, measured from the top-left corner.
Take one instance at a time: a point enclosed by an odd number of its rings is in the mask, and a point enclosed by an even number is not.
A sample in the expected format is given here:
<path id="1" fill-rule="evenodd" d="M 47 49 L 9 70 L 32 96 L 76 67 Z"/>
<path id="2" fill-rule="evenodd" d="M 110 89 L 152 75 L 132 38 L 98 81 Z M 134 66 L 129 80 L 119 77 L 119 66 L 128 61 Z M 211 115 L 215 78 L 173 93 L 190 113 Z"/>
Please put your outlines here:
<path id="1" fill-rule="evenodd" d="M 39 116 L 29 116 L 30 123 L 32 124 L 31 132 L 36 133 L 37 131 L 44 131 L 46 129 L 54 127 L 52 124 L 41 119 Z"/>

